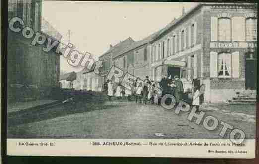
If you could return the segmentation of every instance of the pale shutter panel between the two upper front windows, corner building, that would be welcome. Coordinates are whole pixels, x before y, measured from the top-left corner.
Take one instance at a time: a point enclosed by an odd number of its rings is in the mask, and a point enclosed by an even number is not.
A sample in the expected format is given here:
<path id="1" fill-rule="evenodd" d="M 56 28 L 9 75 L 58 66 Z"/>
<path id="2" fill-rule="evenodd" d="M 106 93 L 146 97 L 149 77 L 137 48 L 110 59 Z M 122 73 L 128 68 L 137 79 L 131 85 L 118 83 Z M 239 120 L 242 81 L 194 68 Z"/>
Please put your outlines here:
<path id="1" fill-rule="evenodd" d="M 232 41 L 245 41 L 245 17 L 232 18 Z"/>

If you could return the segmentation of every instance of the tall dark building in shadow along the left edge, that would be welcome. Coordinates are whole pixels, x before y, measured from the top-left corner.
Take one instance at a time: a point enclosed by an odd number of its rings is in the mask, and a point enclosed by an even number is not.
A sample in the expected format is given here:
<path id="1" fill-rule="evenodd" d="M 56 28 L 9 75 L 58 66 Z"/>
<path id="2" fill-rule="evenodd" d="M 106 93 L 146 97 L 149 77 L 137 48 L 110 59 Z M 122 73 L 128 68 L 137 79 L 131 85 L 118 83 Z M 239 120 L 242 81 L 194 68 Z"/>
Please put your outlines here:
<path id="1" fill-rule="evenodd" d="M 24 26 L 31 27 L 34 32 L 41 31 L 42 2 L 37 0 L 9 0 L 8 1 L 8 21 L 17 16 L 24 21 Z M 51 37 L 47 33 L 43 33 L 47 37 Z M 8 28 L 7 42 L 7 80 L 8 80 L 8 96 L 16 97 L 15 86 L 26 85 L 32 88 L 38 88 L 42 93 L 48 94 L 51 88 L 59 87 L 59 60 L 60 54 L 55 50 L 44 52 L 43 45 L 31 45 L 33 37 L 27 39 L 22 32 L 16 33 Z M 10 87 L 11 88 L 10 88 Z M 26 91 L 25 91 L 26 92 Z M 27 95 L 30 97 L 33 95 Z M 15 99 L 16 99 L 15 98 Z"/>

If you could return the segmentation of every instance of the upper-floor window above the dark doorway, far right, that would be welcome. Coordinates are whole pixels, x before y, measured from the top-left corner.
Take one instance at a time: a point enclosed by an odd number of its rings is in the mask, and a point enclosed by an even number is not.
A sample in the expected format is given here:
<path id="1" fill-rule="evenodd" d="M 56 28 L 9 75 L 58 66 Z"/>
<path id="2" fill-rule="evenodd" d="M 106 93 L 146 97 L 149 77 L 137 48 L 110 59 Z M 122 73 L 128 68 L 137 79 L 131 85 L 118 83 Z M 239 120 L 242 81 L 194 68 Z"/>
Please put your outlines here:
<path id="1" fill-rule="evenodd" d="M 256 18 L 246 19 L 246 34 L 247 34 L 247 41 L 257 40 L 257 19 Z"/>

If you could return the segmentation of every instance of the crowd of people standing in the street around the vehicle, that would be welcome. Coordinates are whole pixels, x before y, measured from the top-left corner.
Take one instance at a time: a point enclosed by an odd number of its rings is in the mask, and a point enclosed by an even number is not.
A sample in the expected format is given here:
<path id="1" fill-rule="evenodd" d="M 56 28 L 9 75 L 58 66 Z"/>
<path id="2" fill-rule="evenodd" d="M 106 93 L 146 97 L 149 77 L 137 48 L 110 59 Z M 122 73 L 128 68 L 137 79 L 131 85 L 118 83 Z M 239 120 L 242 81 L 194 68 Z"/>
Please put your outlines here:
<path id="1" fill-rule="evenodd" d="M 158 83 L 151 81 L 148 76 L 146 76 L 144 81 L 140 80 L 140 78 L 137 78 L 131 87 L 131 90 L 124 88 L 120 84 L 115 84 L 110 80 L 107 80 L 107 82 L 104 84 L 104 89 L 107 92 L 109 101 L 112 100 L 113 96 L 117 97 L 118 100 L 122 99 L 123 97 L 127 97 L 128 101 L 131 101 L 131 96 L 134 96 L 136 103 L 143 102 L 144 104 L 147 104 L 147 101 L 150 101 L 151 104 L 158 103 L 158 93 L 155 89 L 156 87 L 161 88 L 161 96 L 165 94 L 173 95 L 176 98 L 176 103 L 179 103 L 179 101 L 183 99 L 184 87 L 178 75 L 175 75 L 173 78 L 171 75 L 164 76 Z M 194 101 L 192 105 L 195 105 L 196 108 L 198 108 L 198 88 L 195 88 L 194 93 Z"/>

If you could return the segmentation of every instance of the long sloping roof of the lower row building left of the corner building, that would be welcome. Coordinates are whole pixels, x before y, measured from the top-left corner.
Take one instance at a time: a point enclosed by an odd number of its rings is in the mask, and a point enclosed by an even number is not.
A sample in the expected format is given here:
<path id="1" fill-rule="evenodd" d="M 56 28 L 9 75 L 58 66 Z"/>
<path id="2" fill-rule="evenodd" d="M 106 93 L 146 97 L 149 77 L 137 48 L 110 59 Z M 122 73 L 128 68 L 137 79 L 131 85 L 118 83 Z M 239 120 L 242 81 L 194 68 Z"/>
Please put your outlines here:
<path id="1" fill-rule="evenodd" d="M 162 30 L 162 29 L 161 29 L 161 30 Z M 129 51 L 132 50 L 132 49 L 135 49 L 135 48 L 137 48 L 137 47 L 140 47 L 140 46 L 142 46 L 142 45 L 144 45 L 144 44 L 149 43 L 150 41 L 152 41 L 152 40 L 156 37 L 156 35 L 159 34 L 159 32 L 160 32 L 161 30 L 159 30 L 159 31 L 157 31 L 157 32 L 155 32 L 155 33 L 153 33 L 153 34 L 151 34 L 151 35 L 145 37 L 145 38 L 142 39 L 142 40 L 133 42 L 133 43 L 131 43 L 131 44 L 129 44 L 129 45 L 125 45 L 125 46 L 122 46 L 122 47 L 116 49 L 116 50 L 114 51 L 114 56 L 113 56 L 113 58 L 116 58 L 116 57 L 118 57 L 118 56 L 120 56 L 120 55 L 122 55 L 122 54 L 124 54 L 124 53 L 126 53 L 126 52 L 129 52 Z"/>

